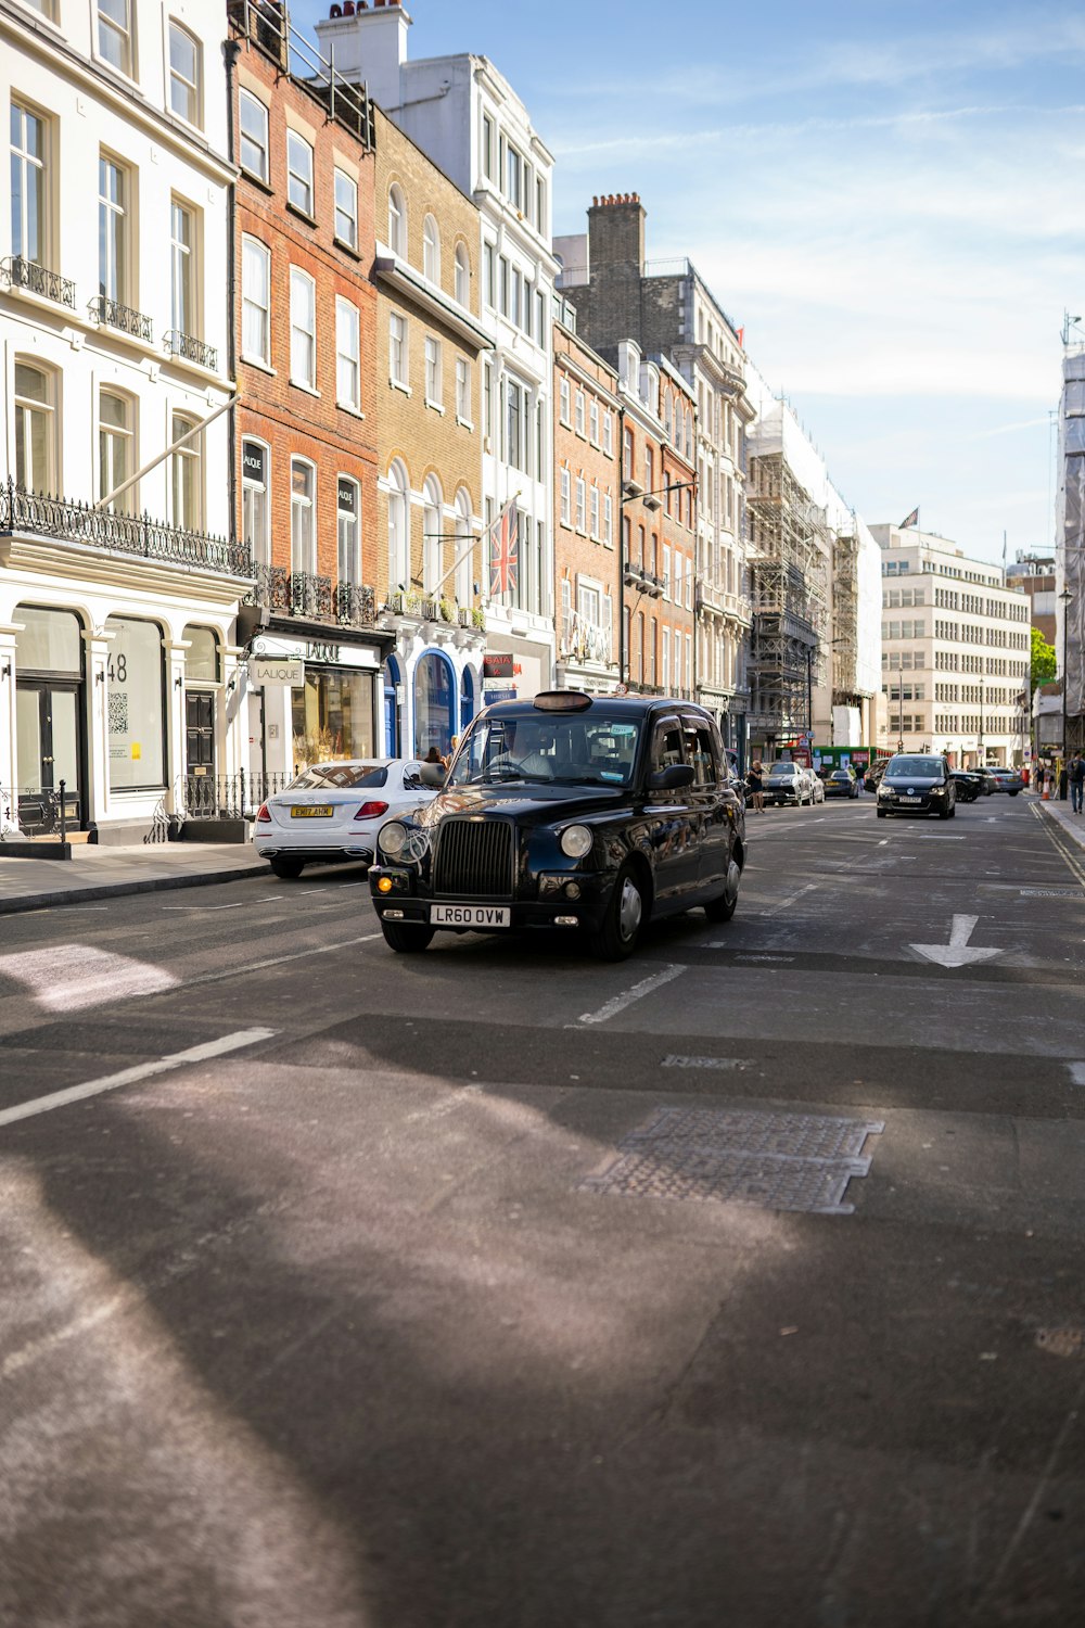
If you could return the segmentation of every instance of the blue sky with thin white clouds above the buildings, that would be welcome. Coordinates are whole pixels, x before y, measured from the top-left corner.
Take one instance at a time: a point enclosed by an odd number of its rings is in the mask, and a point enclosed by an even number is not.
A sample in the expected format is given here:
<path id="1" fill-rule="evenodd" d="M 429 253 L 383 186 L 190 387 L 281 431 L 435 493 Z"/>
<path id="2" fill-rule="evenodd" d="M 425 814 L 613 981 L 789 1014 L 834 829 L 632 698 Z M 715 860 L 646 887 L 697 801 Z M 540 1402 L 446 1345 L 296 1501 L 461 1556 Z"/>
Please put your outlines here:
<path id="1" fill-rule="evenodd" d="M 294 5 L 306 26 L 325 7 Z M 555 233 L 639 192 L 867 519 L 1051 547 L 1064 308 L 1085 316 L 1085 11 L 413 0 L 556 155 Z"/>

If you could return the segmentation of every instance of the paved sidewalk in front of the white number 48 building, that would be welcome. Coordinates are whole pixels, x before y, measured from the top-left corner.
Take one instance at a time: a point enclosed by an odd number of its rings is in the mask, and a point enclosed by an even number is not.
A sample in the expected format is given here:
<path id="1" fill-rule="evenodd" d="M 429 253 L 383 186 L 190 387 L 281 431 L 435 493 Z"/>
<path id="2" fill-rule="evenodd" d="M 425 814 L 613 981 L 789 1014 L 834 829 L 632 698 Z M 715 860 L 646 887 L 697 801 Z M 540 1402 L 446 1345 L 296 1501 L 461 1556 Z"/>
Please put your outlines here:
<path id="1" fill-rule="evenodd" d="M 0 915 L 47 905 L 200 887 L 268 876 L 252 843 L 166 842 L 155 847 L 76 847 L 70 860 L 5 860 L 0 847 Z"/>

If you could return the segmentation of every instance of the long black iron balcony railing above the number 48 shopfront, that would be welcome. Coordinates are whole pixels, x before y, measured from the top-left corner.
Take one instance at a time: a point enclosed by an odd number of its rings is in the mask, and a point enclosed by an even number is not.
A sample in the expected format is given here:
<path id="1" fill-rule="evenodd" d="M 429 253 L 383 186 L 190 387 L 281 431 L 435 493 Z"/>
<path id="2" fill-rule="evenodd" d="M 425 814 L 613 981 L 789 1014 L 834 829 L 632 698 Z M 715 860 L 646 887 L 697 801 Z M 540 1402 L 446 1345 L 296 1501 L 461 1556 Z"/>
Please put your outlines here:
<path id="1" fill-rule="evenodd" d="M 83 542 L 111 554 L 133 554 L 146 560 L 198 565 L 226 576 L 252 576 L 252 555 L 237 542 L 198 531 L 181 531 L 150 514 L 114 514 L 70 503 L 67 498 L 24 492 L 13 480 L 0 485 L 0 534 L 29 532 L 63 542 Z"/>

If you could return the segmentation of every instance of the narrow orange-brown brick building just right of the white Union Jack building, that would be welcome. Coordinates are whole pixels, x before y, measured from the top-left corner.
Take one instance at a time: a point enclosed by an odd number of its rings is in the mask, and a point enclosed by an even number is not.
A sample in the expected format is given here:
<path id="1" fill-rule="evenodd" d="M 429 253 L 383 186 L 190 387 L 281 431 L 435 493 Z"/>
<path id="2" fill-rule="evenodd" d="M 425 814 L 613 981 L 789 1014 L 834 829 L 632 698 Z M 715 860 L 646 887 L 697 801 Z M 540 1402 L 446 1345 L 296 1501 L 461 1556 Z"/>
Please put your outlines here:
<path id="1" fill-rule="evenodd" d="M 608 694 L 620 682 L 618 376 L 574 330 L 553 326 L 553 545 L 558 685 Z"/>

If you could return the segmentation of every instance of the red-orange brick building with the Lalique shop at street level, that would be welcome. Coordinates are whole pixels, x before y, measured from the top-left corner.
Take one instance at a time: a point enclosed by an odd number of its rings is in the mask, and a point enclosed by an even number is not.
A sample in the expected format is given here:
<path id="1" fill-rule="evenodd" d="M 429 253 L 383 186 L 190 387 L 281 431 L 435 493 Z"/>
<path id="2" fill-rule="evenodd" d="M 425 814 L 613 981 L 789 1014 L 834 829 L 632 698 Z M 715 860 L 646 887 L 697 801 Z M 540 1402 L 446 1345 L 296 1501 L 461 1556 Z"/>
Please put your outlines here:
<path id="1" fill-rule="evenodd" d="M 249 690 L 251 767 L 283 772 L 382 749 L 376 122 L 272 8 L 229 18 L 236 523 L 257 570 L 239 637 L 303 663 L 301 682 Z"/>

